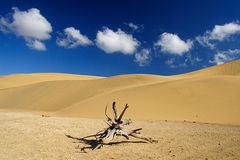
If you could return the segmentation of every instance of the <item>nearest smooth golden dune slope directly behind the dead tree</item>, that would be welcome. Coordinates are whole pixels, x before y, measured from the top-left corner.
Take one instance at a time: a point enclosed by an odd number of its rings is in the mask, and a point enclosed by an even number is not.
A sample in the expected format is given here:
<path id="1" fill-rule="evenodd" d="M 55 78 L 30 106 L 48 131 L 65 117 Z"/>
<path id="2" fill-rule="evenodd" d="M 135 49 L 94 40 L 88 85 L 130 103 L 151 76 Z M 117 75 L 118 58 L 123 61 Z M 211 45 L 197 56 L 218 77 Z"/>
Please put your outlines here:
<path id="1" fill-rule="evenodd" d="M 57 111 L 99 117 L 106 102 L 130 104 L 129 117 L 240 124 L 240 77 L 184 79 L 108 92 Z M 89 112 L 91 111 L 91 112 Z"/>

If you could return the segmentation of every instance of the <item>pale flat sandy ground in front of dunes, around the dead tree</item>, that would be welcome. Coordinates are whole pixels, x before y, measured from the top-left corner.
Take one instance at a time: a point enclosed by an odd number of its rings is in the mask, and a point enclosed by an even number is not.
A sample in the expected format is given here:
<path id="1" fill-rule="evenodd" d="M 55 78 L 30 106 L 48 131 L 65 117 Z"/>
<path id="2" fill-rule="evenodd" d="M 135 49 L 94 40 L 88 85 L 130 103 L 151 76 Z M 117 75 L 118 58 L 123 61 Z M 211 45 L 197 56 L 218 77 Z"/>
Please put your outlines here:
<path id="1" fill-rule="evenodd" d="M 67 138 L 93 134 L 106 125 L 100 119 L 41 117 L 37 113 L 0 112 L 1 160 L 238 160 L 240 127 L 190 122 L 136 121 L 157 144 L 129 142 L 81 153 L 86 144 Z M 120 141 L 118 139 L 117 141 Z"/>

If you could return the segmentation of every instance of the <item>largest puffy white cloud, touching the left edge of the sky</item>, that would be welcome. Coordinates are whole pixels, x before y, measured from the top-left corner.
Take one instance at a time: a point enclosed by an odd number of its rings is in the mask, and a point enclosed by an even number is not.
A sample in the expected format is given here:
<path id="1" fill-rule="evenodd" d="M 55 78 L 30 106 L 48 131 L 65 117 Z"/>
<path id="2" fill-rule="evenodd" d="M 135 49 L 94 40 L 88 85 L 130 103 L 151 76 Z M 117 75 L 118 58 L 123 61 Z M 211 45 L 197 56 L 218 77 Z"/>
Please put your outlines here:
<path id="1" fill-rule="evenodd" d="M 0 30 L 23 37 L 27 46 L 36 50 L 46 50 L 42 41 L 50 39 L 52 26 L 37 8 L 20 11 L 13 7 L 10 17 L 0 18 Z"/>

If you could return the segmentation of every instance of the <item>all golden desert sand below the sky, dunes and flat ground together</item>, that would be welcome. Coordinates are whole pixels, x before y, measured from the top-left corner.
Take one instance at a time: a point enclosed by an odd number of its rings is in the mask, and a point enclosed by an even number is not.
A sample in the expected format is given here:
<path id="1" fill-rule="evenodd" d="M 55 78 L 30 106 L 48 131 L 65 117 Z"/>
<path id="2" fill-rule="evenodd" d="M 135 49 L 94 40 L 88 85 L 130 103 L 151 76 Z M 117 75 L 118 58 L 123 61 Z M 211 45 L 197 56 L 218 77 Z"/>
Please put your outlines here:
<path id="1" fill-rule="evenodd" d="M 239 97 L 240 60 L 175 76 L 1 76 L 0 159 L 240 159 Z M 113 101 L 159 143 L 120 138 L 81 153 L 78 138 L 106 127 Z"/>

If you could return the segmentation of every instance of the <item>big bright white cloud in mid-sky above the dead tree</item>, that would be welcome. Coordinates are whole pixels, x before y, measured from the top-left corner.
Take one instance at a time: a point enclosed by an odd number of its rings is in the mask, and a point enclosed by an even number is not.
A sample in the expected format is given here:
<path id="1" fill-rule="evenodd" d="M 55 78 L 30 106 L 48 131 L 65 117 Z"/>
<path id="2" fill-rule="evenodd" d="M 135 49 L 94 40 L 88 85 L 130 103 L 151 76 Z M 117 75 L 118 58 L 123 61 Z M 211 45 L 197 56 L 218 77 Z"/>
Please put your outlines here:
<path id="1" fill-rule="evenodd" d="M 97 32 L 96 44 L 106 53 L 122 52 L 126 55 L 134 54 L 140 45 L 131 34 L 127 34 L 121 29 L 114 32 L 109 28 Z"/>

